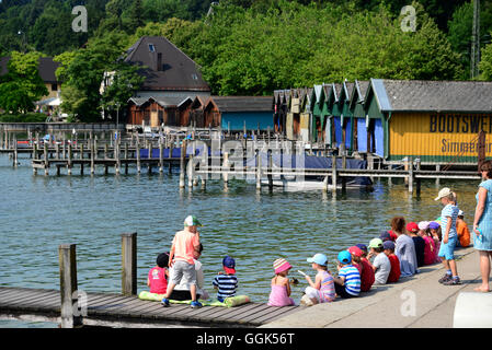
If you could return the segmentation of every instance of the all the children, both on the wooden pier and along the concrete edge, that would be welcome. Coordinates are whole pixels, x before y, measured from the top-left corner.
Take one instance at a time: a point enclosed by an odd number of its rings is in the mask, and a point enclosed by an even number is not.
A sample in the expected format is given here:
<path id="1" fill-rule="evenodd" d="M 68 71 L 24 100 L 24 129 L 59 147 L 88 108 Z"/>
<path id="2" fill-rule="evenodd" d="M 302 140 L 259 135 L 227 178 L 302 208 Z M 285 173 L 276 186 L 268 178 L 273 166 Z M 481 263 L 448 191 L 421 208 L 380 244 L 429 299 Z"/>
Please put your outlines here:
<path id="1" fill-rule="evenodd" d="M 446 285 L 460 284 L 454 249 L 456 246 L 470 244 L 470 232 L 462 220 L 464 213 L 457 206 L 456 194 L 443 188 L 437 198 L 444 206 L 440 218 L 436 221 L 410 222 L 405 224 L 402 217 L 391 220 L 391 230 L 384 231 L 379 237 L 373 238 L 369 245 L 356 244 L 342 250 L 336 256 L 337 275 L 328 269 L 328 257 L 316 254 L 307 259 L 316 271 L 314 280 L 305 276 L 308 287 L 305 289 L 301 304 L 313 305 L 333 302 L 336 298 L 357 298 L 367 292 L 374 284 L 398 282 L 400 278 L 419 272 L 419 267 L 442 261 L 446 273 L 439 282 Z M 190 215 L 184 221 L 184 230 L 175 234 L 171 252 L 160 254 L 157 266 L 150 269 L 148 285 L 151 293 L 163 294 L 161 304 L 169 306 L 170 299 L 191 300 L 192 307 L 202 304 L 198 298 L 207 299 L 202 291 L 203 275 L 197 261 L 203 245 L 199 242 L 197 226 L 199 221 Z M 213 285 L 217 290 L 217 300 L 234 296 L 238 288 L 236 261 L 230 256 L 222 259 L 224 272 L 214 278 Z M 168 269 L 169 268 L 169 269 Z M 290 296 L 288 278 L 291 265 L 285 259 L 276 259 L 273 264 L 275 277 L 271 281 L 268 305 L 295 305 Z M 197 271 L 198 273 L 197 277 Z M 296 279 L 293 279 L 297 282 Z M 174 291 L 176 285 L 184 285 L 184 292 Z M 197 293 L 198 288 L 198 293 Z M 184 294 L 183 294 L 184 293 Z"/>

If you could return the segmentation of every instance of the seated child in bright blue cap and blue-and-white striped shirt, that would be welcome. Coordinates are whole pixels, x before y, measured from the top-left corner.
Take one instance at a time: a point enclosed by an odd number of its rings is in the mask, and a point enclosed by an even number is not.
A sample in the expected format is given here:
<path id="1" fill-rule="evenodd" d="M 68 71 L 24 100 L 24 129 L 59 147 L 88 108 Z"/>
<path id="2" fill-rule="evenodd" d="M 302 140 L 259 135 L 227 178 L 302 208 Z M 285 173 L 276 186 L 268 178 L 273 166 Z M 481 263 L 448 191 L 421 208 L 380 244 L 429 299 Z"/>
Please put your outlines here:
<path id="1" fill-rule="evenodd" d="M 356 298 L 361 293 L 361 275 L 352 266 L 352 255 L 347 250 L 339 253 L 339 276 L 334 277 L 335 292 L 343 299 Z"/>

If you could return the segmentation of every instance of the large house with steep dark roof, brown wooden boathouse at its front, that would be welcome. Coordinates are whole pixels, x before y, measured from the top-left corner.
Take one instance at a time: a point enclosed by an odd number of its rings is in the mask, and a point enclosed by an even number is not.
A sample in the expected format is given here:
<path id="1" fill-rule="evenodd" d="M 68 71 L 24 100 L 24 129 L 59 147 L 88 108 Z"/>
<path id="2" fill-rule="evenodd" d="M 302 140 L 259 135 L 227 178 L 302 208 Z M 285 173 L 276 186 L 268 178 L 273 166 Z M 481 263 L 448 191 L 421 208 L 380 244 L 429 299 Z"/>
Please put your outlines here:
<path id="1" fill-rule="evenodd" d="M 128 101 L 128 124 L 186 125 L 195 97 L 210 95 L 199 67 L 165 37 L 141 37 L 128 49 L 125 62 L 138 66 L 138 74 L 145 78 Z"/>

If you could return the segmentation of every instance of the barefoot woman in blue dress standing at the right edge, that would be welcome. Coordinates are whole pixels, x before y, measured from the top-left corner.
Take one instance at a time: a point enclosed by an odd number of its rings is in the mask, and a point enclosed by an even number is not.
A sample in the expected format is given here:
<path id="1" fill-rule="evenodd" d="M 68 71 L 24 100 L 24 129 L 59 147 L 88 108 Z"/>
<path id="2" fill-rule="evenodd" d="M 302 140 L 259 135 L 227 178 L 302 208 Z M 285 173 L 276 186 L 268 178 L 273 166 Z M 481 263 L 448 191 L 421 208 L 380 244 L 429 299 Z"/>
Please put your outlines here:
<path id="1" fill-rule="evenodd" d="M 473 246 L 480 254 L 482 284 L 477 292 L 489 292 L 490 258 L 492 257 L 492 161 L 485 161 L 480 167 L 483 182 L 477 194 L 477 209 L 473 220 Z"/>

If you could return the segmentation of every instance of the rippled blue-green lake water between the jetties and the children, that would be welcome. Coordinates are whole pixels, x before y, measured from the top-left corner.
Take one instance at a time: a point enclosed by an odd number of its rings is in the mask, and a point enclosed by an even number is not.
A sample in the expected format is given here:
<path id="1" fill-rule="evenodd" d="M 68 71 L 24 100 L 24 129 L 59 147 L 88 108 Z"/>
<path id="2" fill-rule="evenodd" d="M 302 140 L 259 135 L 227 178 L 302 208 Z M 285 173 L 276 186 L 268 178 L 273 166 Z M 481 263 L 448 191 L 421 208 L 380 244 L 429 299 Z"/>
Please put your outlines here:
<path id="1" fill-rule="evenodd" d="M 420 198 L 408 194 L 402 179 L 376 180 L 373 191 L 321 190 L 286 192 L 231 180 L 224 190 L 220 180 L 207 183 L 206 190 L 179 189 L 179 176 L 155 172 L 140 175 L 96 174 L 34 176 L 28 159 L 18 168 L 0 155 L 0 285 L 59 288 L 58 245 L 77 244 L 79 289 L 121 291 L 121 234 L 138 233 L 138 292 L 146 290 L 149 268 L 159 253 L 169 250 L 183 220 L 195 214 L 204 224 L 201 237 L 207 290 L 230 255 L 237 262 L 239 294 L 266 302 L 273 261 L 285 257 L 293 265 L 293 287 L 298 302 L 306 283 L 296 272 L 314 276 L 306 258 L 324 253 L 334 268 L 337 252 L 379 236 L 393 215 L 408 221 L 439 217 L 434 201 L 439 187 L 434 180 L 422 184 Z M 54 170 L 52 170 L 52 174 Z M 39 173 L 41 174 L 41 173 Z M 479 182 L 440 180 L 458 194 L 465 220 L 471 224 Z M 0 323 L 7 327 L 9 323 Z M 20 327 L 32 325 L 20 323 Z M 37 326 L 37 325 L 34 325 Z"/>

